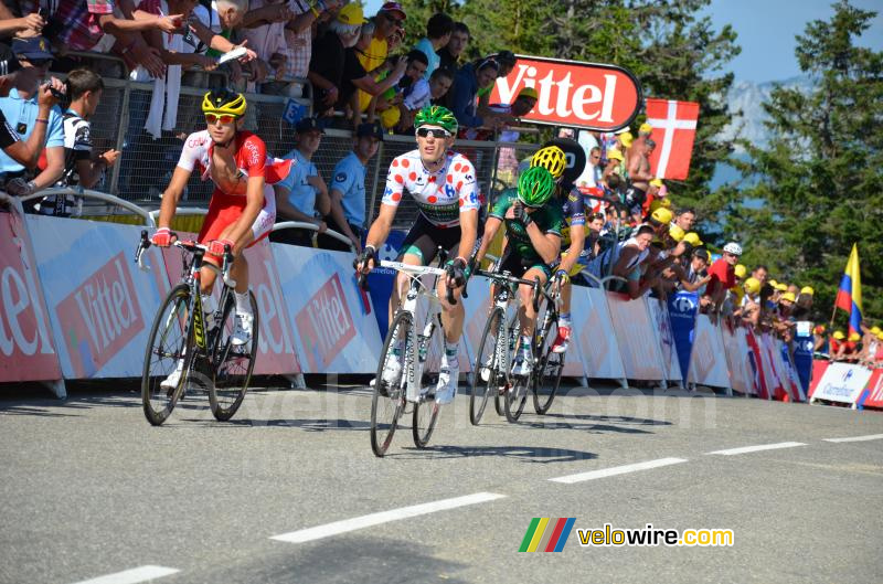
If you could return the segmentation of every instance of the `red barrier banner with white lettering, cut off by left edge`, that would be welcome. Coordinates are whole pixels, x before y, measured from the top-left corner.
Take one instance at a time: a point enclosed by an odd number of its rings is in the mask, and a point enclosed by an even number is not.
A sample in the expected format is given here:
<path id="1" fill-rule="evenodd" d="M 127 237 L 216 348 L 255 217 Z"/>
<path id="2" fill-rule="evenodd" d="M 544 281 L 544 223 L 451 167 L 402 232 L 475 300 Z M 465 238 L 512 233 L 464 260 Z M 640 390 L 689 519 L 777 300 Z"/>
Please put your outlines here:
<path id="1" fill-rule="evenodd" d="M 0 213 L 0 382 L 62 376 L 23 217 Z"/>

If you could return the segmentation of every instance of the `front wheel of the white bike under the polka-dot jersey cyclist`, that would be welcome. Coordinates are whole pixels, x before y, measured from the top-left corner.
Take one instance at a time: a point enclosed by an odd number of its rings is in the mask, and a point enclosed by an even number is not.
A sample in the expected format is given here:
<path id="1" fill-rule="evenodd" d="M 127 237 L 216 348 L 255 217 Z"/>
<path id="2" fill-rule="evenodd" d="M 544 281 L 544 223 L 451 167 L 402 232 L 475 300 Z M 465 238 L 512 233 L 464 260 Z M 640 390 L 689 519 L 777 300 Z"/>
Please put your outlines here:
<path id="1" fill-rule="evenodd" d="M 377 363 L 377 374 L 374 378 L 374 394 L 371 399 L 371 449 L 374 456 L 383 456 L 393 442 L 398 417 L 405 407 L 405 387 L 407 385 L 407 369 L 411 367 L 406 355 L 416 354 L 416 348 L 411 347 L 411 335 L 414 320 L 411 312 L 400 310 L 383 342 L 383 351 Z M 401 353 L 393 355 L 396 347 Z M 397 359 L 398 371 L 391 367 L 391 361 Z M 390 372 L 387 372 L 387 368 Z M 386 372 L 386 380 L 384 380 Z"/>

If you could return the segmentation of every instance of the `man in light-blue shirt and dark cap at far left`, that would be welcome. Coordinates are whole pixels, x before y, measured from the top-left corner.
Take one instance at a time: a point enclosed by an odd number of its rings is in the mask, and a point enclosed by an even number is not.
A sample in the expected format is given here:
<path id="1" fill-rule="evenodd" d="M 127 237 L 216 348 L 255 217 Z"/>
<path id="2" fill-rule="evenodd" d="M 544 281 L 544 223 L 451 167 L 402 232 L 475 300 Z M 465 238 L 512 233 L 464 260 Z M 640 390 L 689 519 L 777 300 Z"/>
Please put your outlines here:
<path id="1" fill-rule="evenodd" d="M 64 172 L 64 124 L 62 112 L 53 107 L 46 118 L 41 117 L 38 104 L 38 87 L 46 76 L 53 55 L 49 42 L 42 36 L 15 39 L 12 52 L 21 63 L 22 70 L 15 78 L 15 86 L 7 97 L 0 98 L 2 109 L 9 125 L 25 139 L 40 124 L 46 124 L 45 166 L 39 163 L 25 167 L 6 153 L 0 155 L 0 170 L 6 177 L 6 191 L 17 197 L 31 194 L 40 189 L 55 184 Z M 36 168 L 35 168 L 36 167 Z M 30 170 L 33 170 L 33 176 Z M 33 180 L 29 177 L 33 176 Z M 36 201 L 25 203 L 25 209 L 34 210 Z"/>

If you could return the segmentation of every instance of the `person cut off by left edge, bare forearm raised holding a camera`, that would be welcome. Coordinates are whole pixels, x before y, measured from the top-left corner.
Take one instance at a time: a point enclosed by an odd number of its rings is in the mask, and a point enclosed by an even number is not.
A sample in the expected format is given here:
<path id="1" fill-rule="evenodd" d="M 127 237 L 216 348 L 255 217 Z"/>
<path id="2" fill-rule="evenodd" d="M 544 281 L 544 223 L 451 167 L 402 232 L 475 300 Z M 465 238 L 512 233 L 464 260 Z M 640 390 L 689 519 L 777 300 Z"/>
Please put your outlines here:
<path id="1" fill-rule="evenodd" d="M 15 59 L 12 50 L 6 45 L 0 45 L 0 103 L 6 99 L 6 96 L 19 83 L 18 77 L 21 73 L 21 63 Z M 49 83 L 38 88 L 36 118 L 24 140 L 12 128 L 3 109 L 0 108 L 0 149 L 2 150 L 0 158 L 9 158 L 20 167 L 33 168 L 36 166 L 40 152 L 43 151 L 43 145 L 46 140 L 50 113 L 57 103 L 57 98 L 50 88 L 63 93 L 64 84 L 53 77 Z M 14 179 L 17 177 L 13 176 L 11 178 Z M 3 188 L 7 183 L 8 178 L 3 173 L 0 176 L 0 188 Z M 6 189 L 3 188 L 3 190 Z"/>

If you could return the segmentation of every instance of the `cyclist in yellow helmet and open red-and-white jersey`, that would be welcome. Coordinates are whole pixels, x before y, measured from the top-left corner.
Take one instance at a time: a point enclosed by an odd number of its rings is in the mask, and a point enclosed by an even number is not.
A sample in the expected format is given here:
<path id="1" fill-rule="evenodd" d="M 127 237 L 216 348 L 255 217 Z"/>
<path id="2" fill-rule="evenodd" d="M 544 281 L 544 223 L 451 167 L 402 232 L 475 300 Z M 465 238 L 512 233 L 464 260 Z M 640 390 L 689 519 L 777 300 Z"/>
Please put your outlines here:
<path id="1" fill-rule="evenodd" d="M 268 158 L 264 140 L 241 129 L 245 108 L 242 94 L 228 89 L 205 94 L 202 112 L 208 128 L 188 136 L 162 194 L 159 229 L 151 238 L 161 247 L 177 238 L 171 232 L 171 222 L 187 182 L 199 167 L 202 179 L 211 179 L 215 189 L 198 241 L 208 243 L 204 259 L 217 266 L 222 263 L 224 246 L 230 245 L 233 251 L 235 261 L 231 277 L 236 280 L 236 317 L 232 339 L 237 346 L 249 341 L 254 322 L 248 298 L 248 263 L 242 252 L 269 234 L 276 219 L 276 198 L 270 184 L 284 179 L 292 163 Z M 216 273 L 206 267 L 200 278 L 202 306 L 208 315 L 214 311 L 211 291 L 215 276 Z M 206 320 L 206 323 L 211 328 L 212 322 Z M 177 386 L 177 380 L 171 376 L 166 381 Z"/>

